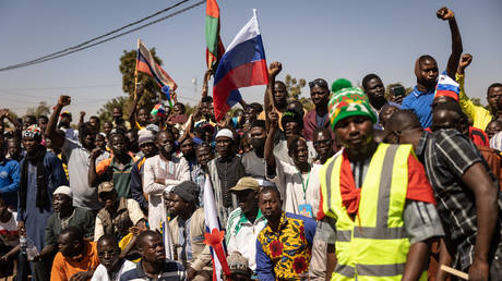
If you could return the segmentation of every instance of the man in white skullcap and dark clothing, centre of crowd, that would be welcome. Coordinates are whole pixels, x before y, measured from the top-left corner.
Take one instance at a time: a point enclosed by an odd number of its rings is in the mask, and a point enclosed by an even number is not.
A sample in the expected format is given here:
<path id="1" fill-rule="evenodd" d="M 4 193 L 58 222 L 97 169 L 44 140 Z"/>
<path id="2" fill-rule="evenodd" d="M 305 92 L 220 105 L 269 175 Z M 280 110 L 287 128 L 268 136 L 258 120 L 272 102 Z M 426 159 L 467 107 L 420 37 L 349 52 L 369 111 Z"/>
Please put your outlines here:
<path id="1" fill-rule="evenodd" d="M 216 134 L 216 151 L 219 157 L 207 163 L 222 225 L 227 223 L 230 211 L 237 208 L 237 198 L 230 193 L 230 187 L 244 175 L 244 167 L 237 156 L 236 135 L 230 129 L 219 130 Z"/>

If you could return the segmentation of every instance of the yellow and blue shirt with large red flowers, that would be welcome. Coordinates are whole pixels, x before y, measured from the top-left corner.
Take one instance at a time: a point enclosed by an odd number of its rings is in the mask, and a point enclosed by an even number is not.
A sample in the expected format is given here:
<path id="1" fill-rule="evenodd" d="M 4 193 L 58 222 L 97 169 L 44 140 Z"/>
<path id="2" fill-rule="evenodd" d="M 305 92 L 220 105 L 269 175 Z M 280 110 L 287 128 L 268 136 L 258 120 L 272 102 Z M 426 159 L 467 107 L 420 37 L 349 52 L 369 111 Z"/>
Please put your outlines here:
<path id="1" fill-rule="evenodd" d="M 258 235 L 258 279 L 299 279 L 309 268 L 314 234 L 314 220 L 283 211 L 277 231 L 266 225 Z"/>

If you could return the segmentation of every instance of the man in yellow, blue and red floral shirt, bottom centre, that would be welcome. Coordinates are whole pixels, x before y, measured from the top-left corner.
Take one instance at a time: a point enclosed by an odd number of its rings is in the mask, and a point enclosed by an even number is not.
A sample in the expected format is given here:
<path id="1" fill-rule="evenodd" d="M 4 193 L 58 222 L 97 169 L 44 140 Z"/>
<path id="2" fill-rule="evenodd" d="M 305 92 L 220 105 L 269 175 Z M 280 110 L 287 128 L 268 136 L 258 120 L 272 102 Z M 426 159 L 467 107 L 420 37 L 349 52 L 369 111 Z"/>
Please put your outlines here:
<path id="1" fill-rule="evenodd" d="M 283 211 L 280 193 L 274 186 L 263 187 L 259 201 L 267 222 L 256 240 L 258 279 L 300 279 L 309 268 L 315 221 Z"/>

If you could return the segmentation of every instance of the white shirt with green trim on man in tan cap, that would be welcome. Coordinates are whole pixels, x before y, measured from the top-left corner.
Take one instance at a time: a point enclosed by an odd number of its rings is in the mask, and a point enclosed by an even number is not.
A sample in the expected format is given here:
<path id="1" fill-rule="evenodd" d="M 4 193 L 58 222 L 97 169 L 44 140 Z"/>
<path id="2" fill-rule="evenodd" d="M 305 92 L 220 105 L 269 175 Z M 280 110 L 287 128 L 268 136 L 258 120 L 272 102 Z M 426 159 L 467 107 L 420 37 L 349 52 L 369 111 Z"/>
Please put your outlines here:
<path id="1" fill-rule="evenodd" d="M 225 241 L 227 243 L 227 252 L 239 252 L 248 259 L 249 268 L 253 271 L 256 269 L 256 244 L 258 235 L 266 225 L 266 219 L 262 216 L 261 210 L 258 211 L 254 222 L 246 218 L 242 209 L 239 207 L 228 216 Z"/>

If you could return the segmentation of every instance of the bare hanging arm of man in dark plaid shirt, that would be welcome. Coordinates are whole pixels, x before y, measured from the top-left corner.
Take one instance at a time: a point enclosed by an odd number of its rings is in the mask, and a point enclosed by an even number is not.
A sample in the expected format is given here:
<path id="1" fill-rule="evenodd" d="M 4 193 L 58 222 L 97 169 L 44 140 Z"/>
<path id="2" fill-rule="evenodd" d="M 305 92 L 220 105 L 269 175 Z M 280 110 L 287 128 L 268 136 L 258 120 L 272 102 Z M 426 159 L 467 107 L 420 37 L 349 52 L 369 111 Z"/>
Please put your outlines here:
<path id="1" fill-rule="evenodd" d="M 488 280 L 488 253 L 497 223 L 497 186 L 481 162 L 473 164 L 462 181 L 476 198 L 477 227 L 474 262 L 469 267 L 469 280 Z"/>

